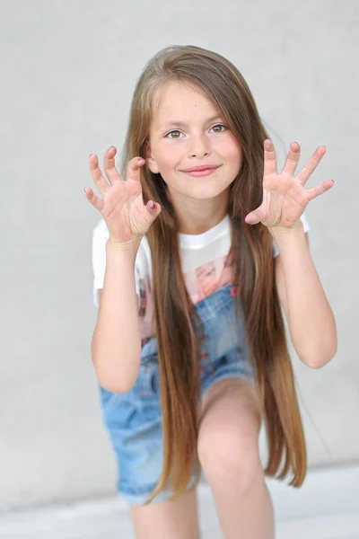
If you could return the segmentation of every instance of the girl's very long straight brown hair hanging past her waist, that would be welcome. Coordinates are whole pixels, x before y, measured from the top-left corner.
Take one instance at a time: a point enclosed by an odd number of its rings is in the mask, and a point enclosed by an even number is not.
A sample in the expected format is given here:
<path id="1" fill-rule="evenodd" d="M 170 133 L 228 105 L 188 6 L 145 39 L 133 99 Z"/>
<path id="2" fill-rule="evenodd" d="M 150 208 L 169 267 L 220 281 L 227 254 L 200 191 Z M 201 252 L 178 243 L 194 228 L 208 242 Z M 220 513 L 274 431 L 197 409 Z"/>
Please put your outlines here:
<path id="1" fill-rule="evenodd" d="M 302 420 L 293 381 L 285 326 L 276 291 L 272 237 L 244 217 L 262 201 L 263 143 L 267 133 L 250 89 L 237 68 L 215 52 L 192 46 L 163 49 L 144 67 L 136 85 L 124 166 L 141 155 L 153 115 L 153 97 L 165 84 L 194 84 L 215 104 L 242 150 L 241 170 L 232 182 L 228 214 L 232 227 L 233 286 L 246 323 L 250 356 L 267 429 L 265 473 L 299 487 L 306 473 Z M 197 464 L 197 400 L 200 389 L 201 323 L 180 266 L 178 224 L 161 174 L 142 169 L 144 203 L 156 200 L 160 216 L 147 238 L 153 263 L 153 298 L 161 373 L 164 463 L 153 497 L 165 486 L 180 495 Z M 150 499 L 150 500 L 151 500 Z"/>

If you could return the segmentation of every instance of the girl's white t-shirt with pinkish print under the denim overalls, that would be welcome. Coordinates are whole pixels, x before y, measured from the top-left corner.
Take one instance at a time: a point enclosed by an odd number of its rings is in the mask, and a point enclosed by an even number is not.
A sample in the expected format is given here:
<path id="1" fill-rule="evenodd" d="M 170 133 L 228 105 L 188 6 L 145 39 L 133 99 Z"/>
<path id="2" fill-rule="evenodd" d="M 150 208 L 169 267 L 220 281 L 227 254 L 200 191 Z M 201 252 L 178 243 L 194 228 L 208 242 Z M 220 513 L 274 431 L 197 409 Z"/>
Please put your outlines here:
<path id="1" fill-rule="evenodd" d="M 304 232 L 309 225 L 304 215 L 301 217 Z M 93 303 L 99 306 L 98 290 L 103 287 L 106 269 L 106 242 L 109 230 L 104 219 L 94 228 L 92 236 Z M 203 234 L 180 234 L 180 260 L 188 294 L 194 304 L 216 289 L 232 282 L 232 264 L 228 262 L 231 248 L 231 225 L 229 216 Z M 273 242 L 273 256 L 279 254 Z M 152 263 L 147 238 L 144 236 L 135 263 L 136 292 L 140 296 L 140 317 L 142 337 L 152 335 Z"/>

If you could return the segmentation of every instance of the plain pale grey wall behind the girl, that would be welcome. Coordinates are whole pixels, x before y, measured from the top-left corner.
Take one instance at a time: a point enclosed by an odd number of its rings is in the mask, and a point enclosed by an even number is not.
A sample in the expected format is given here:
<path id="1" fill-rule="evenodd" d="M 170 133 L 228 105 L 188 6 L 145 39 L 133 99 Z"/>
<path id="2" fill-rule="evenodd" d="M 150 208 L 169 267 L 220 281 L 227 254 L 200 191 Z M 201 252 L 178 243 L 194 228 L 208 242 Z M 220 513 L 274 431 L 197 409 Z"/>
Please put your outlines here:
<path id="1" fill-rule="evenodd" d="M 339 349 L 311 371 L 293 355 L 310 466 L 359 460 L 357 95 L 359 4 L 13 0 L 1 3 L 0 510 L 115 492 L 90 344 L 88 155 L 122 146 L 136 78 L 171 44 L 229 57 L 284 157 L 328 154 L 310 186 L 311 251 Z M 283 147 L 283 144 L 285 145 Z M 325 328 L 323 328 L 323 332 Z"/>

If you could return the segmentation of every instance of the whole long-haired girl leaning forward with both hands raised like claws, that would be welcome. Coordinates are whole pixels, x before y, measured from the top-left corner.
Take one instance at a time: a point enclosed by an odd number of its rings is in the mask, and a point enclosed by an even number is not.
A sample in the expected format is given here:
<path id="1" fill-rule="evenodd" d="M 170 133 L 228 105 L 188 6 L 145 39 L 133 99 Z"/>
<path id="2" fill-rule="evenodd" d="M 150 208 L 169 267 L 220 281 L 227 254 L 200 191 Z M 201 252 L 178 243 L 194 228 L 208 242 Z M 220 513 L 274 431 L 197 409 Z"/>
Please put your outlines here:
<path id="1" fill-rule="evenodd" d="M 285 342 L 312 368 L 336 325 L 303 210 L 333 185 L 305 183 L 319 146 L 282 172 L 250 89 L 225 58 L 173 47 L 144 68 L 120 176 L 90 156 L 101 212 L 93 234 L 98 320 L 92 358 L 104 421 L 138 539 L 196 539 L 203 471 L 227 539 L 274 537 L 264 476 L 299 487 L 302 421 Z M 263 471 L 258 432 L 265 421 Z M 156 503 L 147 503 L 154 500 Z"/>

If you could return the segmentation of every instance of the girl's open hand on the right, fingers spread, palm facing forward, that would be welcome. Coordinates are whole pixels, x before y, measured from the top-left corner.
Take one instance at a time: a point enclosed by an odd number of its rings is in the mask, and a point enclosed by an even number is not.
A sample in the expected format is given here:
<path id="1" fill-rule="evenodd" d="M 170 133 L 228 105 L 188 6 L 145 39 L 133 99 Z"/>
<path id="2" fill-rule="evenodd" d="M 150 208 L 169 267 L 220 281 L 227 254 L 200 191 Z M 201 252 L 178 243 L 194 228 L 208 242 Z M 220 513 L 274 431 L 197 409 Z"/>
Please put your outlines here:
<path id="1" fill-rule="evenodd" d="M 283 171 L 276 172 L 276 150 L 271 140 L 264 142 L 263 201 L 261 205 L 245 217 L 249 225 L 263 223 L 268 227 L 292 228 L 309 201 L 333 187 L 334 181 L 323 181 L 317 187 L 305 190 L 304 185 L 315 171 L 326 153 L 325 146 L 319 146 L 302 170 L 294 176 L 301 155 L 299 144 L 293 142 L 285 161 Z"/>

